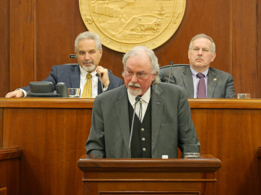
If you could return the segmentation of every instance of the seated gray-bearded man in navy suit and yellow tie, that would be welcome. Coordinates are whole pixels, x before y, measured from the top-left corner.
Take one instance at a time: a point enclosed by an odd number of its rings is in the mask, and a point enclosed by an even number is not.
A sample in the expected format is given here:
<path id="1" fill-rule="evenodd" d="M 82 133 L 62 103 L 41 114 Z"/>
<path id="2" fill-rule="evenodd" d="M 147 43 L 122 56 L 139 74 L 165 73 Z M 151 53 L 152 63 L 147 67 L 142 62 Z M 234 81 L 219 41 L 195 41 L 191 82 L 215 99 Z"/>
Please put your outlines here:
<path id="1" fill-rule="evenodd" d="M 77 65 L 56 65 L 52 67 L 49 76 L 42 80 L 52 82 L 55 85 L 59 82 L 64 82 L 67 88 L 81 88 L 83 92 L 84 86 L 88 84 L 92 88 L 89 94 L 82 94 L 81 97 L 95 98 L 102 91 L 109 91 L 123 85 L 122 79 L 108 73 L 106 68 L 99 66 L 102 57 L 103 49 L 100 37 L 92 32 L 83 32 L 75 39 L 75 52 L 77 55 Z M 96 76 L 99 73 L 102 78 L 103 90 L 101 81 Z M 5 97 L 26 97 L 30 87 L 22 87 L 13 92 L 9 92 Z"/>

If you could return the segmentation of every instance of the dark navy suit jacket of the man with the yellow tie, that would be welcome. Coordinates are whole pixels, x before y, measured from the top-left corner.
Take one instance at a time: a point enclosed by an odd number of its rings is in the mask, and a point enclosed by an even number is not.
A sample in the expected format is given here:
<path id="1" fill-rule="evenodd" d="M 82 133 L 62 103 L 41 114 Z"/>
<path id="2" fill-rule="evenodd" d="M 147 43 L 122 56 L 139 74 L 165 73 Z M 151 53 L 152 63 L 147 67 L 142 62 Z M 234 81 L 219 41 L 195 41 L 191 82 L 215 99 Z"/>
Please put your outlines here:
<path id="1" fill-rule="evenodd" d="M 123 85 L 121 78 L 110 73 L 108 73 L 108 75 L 110 83 L 106 91 Z M 67 88 L 80 88 L 80 65 L 55 65 L 52 67 L 49 76 L 42 81 L 52 82 L 54 89 L 58 82 L 66 83 Z M 29 86 L 22 87 L 22 89 L 30 91 Z M 98 79 L 98 94 L 100 93 L 102 93 L 102 86 Z"/>

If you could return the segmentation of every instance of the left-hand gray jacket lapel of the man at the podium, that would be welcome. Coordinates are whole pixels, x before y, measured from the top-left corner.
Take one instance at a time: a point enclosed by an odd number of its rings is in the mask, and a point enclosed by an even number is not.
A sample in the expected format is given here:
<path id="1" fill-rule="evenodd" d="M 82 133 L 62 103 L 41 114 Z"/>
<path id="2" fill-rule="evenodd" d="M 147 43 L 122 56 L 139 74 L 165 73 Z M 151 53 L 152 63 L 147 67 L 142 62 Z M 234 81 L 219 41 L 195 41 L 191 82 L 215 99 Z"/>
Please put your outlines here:
<path id="1" fill-rule="evenodd" d="M 130 123 L 129 123 L 129 109 L 128 109 L 128 95 L 125 85 L 121 86 L 118 95 L 116 95 L 115 108 L 119 122 L 119 129 L 121 131 L 126 150 L 129 150 L 130 140 Z M 115 129 L 116 130 L 116 129 Z"/>

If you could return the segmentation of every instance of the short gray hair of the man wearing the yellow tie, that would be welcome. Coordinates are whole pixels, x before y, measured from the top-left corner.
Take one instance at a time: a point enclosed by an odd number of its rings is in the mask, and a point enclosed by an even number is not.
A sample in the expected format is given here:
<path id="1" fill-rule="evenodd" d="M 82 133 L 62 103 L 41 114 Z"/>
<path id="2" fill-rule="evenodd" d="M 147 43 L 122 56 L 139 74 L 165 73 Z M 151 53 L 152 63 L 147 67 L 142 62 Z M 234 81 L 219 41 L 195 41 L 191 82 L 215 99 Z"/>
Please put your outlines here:
<path id="1" fill-rule="evenodd" d="M 76 39 L 75 39 L 74 49 L 75 49 L 76 53 L 78 52 L 78 43 L 79 43 L 79 41 L 84 40 L 84 39 L 92 39 L 92 40 L 94 40 L 95 43 L 96 43 L 97 50 L 99 52 L 101 51 L 101 49 L 102 49 L 102 42 L 101 42 L 101 39 L 100 39 L 99 35 L 95 34 L 93 32 L 90 32 L 90 31 L 86 31 L 86 32 L 83 32 L 83 33 L 79 34 L 76 37 Z"/>

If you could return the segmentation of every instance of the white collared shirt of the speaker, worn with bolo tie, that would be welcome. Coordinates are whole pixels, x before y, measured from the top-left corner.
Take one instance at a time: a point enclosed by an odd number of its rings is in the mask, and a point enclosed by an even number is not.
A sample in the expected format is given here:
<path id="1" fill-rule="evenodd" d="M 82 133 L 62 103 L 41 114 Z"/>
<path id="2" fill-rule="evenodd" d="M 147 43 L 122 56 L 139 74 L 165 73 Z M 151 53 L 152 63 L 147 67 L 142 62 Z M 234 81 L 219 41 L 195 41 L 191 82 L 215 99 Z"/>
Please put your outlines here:
<path id="1" fill-rule="evenodd" d="M 147 92 L 145 92 L 141 98 L 141 104 L 142 104 L 142 119 L 141 119 L 141 122 L 144 118 L 144 115 L 146 113 L 146 110 L 147 110 L 147 107 L 148 107 L 148 104 L 149 104 L 149 101 L 150 101 L 150 91 L 151 91 L 151 87 L 147 90 Z M 133 96 L 131 95 L 129 92 L 128 92 L 128 98 L 129 98 L 129 101 L 132 105 L 132 108 L 134 109 L 134 105 L 135 105 L 135 97 L 137 96 Z M 138 102 L 136 104 L 136 110 L 135 110 L 135 113 L 137 115 L 137 117 L 139 118 L 139 112 L 140 112 L 140 102 Z"/>

